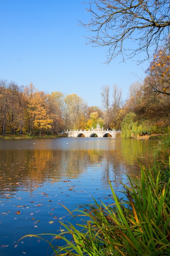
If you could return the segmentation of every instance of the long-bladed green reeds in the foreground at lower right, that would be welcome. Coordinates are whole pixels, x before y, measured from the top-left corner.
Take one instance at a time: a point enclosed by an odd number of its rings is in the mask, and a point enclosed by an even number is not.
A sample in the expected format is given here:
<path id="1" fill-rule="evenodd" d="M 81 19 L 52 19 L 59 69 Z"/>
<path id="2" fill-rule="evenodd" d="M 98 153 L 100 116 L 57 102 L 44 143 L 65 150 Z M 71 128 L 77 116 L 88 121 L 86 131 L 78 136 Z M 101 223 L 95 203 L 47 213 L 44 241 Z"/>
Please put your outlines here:
<path id="1" fill-rule="evenodd" d="M 48 234 L 54 255 L 170 255 L 170 165 L 141 166 L 141 177 L 128 180 L 126 199 L 119 200 L 110 182 L 109 205 L 93 198 L 94 204 L 67 209 L 76 224 L 60 222 L 60 234 Z"/>

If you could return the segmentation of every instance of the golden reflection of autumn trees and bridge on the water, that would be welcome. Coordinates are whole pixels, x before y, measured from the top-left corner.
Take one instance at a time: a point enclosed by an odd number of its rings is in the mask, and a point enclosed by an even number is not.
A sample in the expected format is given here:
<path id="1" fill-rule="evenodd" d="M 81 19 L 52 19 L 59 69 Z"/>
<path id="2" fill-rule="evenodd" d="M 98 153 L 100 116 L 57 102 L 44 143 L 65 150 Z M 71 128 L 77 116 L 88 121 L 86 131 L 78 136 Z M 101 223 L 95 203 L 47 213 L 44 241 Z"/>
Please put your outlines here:
<path id="1" fill-rule="evenodd" d="M 102 169 L 107 183 L 110 173 L 117 180 L 122 172 L 138 172 L 137 157 L 144 157 L 152 144 L 120 138 L 0 141 L 0 185 L 13 190 L 22 185 L 32 190 L 30 180 L 42 184 L 51 179 L 77 178 L 90 168 Z"/>

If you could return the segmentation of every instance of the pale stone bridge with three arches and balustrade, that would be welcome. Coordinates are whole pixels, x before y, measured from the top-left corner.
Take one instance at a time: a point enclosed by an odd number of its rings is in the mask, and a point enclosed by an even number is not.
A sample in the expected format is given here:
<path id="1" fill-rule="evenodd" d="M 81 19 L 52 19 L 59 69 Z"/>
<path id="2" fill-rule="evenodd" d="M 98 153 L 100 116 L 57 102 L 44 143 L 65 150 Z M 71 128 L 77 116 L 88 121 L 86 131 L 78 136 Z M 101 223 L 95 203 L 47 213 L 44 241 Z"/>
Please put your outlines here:
<path id="1" fill-rule="evenodd" d="M 115 138 L 121 131 L 118 130 L 104 130 L 104 129 L 93 129 L 93 130 L 70 130 L 66 131 L 68 137 L 112 137 Z"/>

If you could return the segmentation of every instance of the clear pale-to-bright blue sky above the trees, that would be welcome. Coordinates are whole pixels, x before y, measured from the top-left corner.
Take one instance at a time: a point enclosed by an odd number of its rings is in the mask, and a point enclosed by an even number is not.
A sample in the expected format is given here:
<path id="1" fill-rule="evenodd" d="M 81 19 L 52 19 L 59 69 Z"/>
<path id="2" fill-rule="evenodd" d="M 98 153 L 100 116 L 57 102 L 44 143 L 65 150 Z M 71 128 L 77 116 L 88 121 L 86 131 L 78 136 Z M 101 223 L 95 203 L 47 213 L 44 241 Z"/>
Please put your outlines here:
<path id="1" fill-rule="evenodd" d="M 117 85 L 124 99 L 148 63 L 117 57 L 107 65 L 104 47 L 86 45 L 78 20 L 90 19 L 83 0 L 1 0 L 0 79 L 39 91 L 75 93 L 88 106 L 102 106 L 103 85 Z"/>

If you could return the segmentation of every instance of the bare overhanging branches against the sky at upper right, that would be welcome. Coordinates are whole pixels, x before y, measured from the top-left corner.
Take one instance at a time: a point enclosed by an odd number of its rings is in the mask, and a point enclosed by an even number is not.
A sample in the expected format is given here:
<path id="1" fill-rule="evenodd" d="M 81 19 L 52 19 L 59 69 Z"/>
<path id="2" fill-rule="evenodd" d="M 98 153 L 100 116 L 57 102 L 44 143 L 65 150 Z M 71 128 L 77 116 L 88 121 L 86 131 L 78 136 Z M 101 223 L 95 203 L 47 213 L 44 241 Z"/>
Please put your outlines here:
<path id="1" fill-rule="evenodd" d="M 150 50 L 155 52 L 169 37 L 169 0 L 91 0 L 85 4 L 91 20 L 80 24 L 92 32 L 88 43 L 108 47 L 107 63 L 118 54 L 124 61 L 141 52 L 146 53 L 141 60 L 145 61 Z"/>

